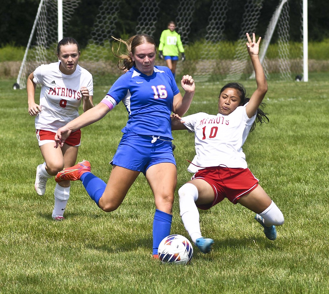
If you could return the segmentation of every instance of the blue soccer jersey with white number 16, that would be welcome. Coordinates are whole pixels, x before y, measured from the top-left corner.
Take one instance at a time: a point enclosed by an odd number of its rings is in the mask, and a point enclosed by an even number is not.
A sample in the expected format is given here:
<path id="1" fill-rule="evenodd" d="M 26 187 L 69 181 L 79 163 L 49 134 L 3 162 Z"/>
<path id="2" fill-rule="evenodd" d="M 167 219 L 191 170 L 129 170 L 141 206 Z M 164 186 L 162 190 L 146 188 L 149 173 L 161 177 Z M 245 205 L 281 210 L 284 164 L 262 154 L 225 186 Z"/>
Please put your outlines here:
<path id="1" fill-rule="evenodd" d="M 178 93 L 169 68 L 155 66 L 153 74 L 147 76 L 132 67 L 115 81 L 104 100 L 110 96 L 126 106 L 129 118 L 122 132 L 172 139 L 170 114 Z"/>

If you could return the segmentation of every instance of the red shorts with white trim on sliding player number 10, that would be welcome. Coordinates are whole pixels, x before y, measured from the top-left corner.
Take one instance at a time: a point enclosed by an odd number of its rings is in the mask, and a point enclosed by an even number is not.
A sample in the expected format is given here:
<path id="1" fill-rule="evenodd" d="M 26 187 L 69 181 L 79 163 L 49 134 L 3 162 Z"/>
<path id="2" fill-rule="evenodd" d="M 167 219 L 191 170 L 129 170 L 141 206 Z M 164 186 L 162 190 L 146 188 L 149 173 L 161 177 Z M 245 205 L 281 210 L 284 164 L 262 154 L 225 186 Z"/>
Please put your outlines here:
<path id="1" fill-rule="evenodd" d="M 215 193 L 212 203 L 197 205 L 203 210 L 211 208 L 225 197 L 233 204 L 237 204 L 243 195 L 250 193 L 258 186 L 258 179 L 249 168 L 207 167 L 199 170 L 192 177 L 192 180 L 194 179 L 206 181 Z"/>

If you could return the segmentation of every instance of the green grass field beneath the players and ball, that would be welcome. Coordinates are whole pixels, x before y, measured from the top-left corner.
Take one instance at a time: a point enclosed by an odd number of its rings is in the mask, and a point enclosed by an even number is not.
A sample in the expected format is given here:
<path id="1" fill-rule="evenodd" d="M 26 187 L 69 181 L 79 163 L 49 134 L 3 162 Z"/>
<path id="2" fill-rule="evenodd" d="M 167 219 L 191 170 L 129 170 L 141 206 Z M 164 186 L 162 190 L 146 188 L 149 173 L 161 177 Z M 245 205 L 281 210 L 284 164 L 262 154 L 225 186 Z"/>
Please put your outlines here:
<path id="1" fill-rule="evenodd" d="M 285 216 L 277 240 L 266 239 L 254 214 L 226 199 L 201 211 L 201 228 L 214 250 L 194 248 L 190 265 L 151 259 L 154 199 L 140 175 L 122 205 L 101 211 L 80 181 L 73 182 L 65 221 L 51 218 L 55 181 L 44 196 L 34 190 L 43 162 L 27 111 L 25 90 L 0 80 L 0 293 L 328 293 L 329 291 L 329 74 L 309 82 L 268 80 L 269 124 L 258 125 L 245 145 L 249 168 Z M 216 113 L 224 84 L 196 83 L 188 114 Z M 255 81 L 242 81 L 249 94 Z M 94 89 L 98 103 L 111 83 Z M 38 89 L 39 93 L 39 89 Z M 37 97 L 38 98 L 38 97 Z M 108 180 L 127 113 L 120 103 L 82 130 L 78 161 Z M 177 190 L 191 174 L 193 134 L 175 131 Z M 187 235 L 175 193 L 172 233 Z"/>

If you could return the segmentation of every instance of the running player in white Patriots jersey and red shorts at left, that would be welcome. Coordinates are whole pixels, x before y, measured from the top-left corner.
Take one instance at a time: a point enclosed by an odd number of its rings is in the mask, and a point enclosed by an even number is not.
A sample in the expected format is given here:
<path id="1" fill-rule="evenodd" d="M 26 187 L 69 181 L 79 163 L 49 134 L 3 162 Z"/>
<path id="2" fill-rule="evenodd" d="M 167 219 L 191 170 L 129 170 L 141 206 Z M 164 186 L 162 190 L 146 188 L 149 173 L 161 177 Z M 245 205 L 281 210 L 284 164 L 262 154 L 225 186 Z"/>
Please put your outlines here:
<path id="1" fill-rule="evenodd" d="M 44 162 L 37 166 L 35 189 L 44 195 L 47 179 L 64 167 L 72 166 L 78 155 L 81 131 L 72 132 L 62 149 L 54 148 L 56 131 L 93 107 L 92 75 L 78 65 L 79 44 L 73 38 L 64 38 L 57 45 L 58 62 L 40 65 L 27 79 L 28 111 L 35 116 L 35 128 Z M 39 104 L 35 102 L 37 84 L 41 84 Z M 52 218 L 64 220 L 64 210 L 70 196 L 70 181 L 58 183 L 54 191 L 55 205 Z"/>

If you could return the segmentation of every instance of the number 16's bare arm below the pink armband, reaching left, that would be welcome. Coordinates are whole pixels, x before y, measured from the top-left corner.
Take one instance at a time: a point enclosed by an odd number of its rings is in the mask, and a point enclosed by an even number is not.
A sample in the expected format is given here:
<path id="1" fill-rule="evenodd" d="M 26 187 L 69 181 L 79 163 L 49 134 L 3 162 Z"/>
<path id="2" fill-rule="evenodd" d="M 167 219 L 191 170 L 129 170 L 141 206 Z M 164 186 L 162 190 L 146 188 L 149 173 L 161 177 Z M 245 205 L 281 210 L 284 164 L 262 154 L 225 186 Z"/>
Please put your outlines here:
<path id="1" fill-rule="evenodd" d="M 67 123 L 62 128 L 58 129 L 55 134 L 55 144 L 54 147 L 63 147 L 63 144 L 67 137 L 70 135 L 71 132 L 80 130 L 83 127 L 89 126 L 94 122 L 99 121 L 103 118 L 108 112 L 110 108 L 104 104 L 99 103 L 95 107 L 90 108 L 74 120 Z"/>

